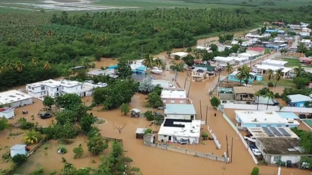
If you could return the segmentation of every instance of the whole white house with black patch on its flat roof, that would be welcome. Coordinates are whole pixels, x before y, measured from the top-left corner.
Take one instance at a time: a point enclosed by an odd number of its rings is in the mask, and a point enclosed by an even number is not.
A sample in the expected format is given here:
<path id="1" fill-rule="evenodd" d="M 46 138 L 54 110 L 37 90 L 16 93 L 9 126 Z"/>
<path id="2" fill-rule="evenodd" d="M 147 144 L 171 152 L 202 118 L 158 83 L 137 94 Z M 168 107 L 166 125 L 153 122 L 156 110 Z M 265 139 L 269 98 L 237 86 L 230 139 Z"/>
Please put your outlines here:
<path id="1" fill-rule="evenodd" d="M 158 132 L 158 141 L 198 144 L 200 134 L 200 120 L 165 118 Z"/>

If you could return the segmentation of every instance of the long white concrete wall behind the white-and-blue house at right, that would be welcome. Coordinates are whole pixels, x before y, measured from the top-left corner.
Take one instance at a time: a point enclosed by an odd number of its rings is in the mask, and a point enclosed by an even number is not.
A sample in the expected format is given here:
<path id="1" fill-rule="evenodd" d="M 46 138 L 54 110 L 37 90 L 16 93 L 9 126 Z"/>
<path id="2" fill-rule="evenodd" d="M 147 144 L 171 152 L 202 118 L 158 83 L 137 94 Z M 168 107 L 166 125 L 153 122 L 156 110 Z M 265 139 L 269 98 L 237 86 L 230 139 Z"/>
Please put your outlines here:
<path id="1" fill-rule="evenodd" d="M 233 108 L 237 110 L 257 110 L 257 105 L 253 104 L 231 104 L 224 103 L 221 105 L 223 108 Z M 266 111 L 267 105 L 259 104 L 258 110 Z M 278 106 L 268 106 L 267 111 L 280 111 Z M 290 107 L 284 106 L 281 112 L 294 112 L 294 113 L 312 113 L 311 107 Z"/>

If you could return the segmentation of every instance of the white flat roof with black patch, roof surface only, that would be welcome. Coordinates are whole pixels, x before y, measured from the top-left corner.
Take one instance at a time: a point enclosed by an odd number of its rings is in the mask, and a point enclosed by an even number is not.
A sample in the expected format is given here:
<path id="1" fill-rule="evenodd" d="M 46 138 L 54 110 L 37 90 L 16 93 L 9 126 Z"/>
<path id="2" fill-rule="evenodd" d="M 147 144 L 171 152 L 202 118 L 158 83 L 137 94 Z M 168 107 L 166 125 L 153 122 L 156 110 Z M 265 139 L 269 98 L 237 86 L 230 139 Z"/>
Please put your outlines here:
<path id="1" fill-rule="evenodd" d="M 200 120 L 181 120 L 165 118 L 162 123 L 159 135 L 200 138 Z"/>

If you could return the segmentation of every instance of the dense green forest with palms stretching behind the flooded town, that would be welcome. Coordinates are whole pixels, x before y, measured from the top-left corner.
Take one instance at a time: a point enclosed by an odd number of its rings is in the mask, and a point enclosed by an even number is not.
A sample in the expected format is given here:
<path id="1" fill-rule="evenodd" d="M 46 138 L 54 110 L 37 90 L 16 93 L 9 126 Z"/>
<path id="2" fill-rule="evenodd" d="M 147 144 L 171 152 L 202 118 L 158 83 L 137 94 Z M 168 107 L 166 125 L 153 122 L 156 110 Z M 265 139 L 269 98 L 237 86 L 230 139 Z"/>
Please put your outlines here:
<path id="1" fill-rule="evenodd" d="M 135 59 L 142 48 L 150 54 L 188 47 L 196 43 L 195 38 L 245 29 L 263 20 L 311 23 L 311 13 L 299 8 L 1 13 L 0 90 L 67 76 L 69 67 L 89 67 L 93 56 Z"/>

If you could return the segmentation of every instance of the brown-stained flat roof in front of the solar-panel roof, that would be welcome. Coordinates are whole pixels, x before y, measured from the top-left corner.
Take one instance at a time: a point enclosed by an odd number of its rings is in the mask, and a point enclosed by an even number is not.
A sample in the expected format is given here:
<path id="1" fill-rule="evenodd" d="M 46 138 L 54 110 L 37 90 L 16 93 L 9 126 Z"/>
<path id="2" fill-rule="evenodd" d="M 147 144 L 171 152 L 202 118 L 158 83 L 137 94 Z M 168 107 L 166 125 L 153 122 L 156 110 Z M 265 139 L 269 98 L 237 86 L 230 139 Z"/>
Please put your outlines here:
<path id="1" fill-rule="evenodd" d="M 301 151 L 298 138 L 270 137 L 258 138 L 258 141 L 262 144 L 263 151 L 269 155 L 307 155 Z"/>

